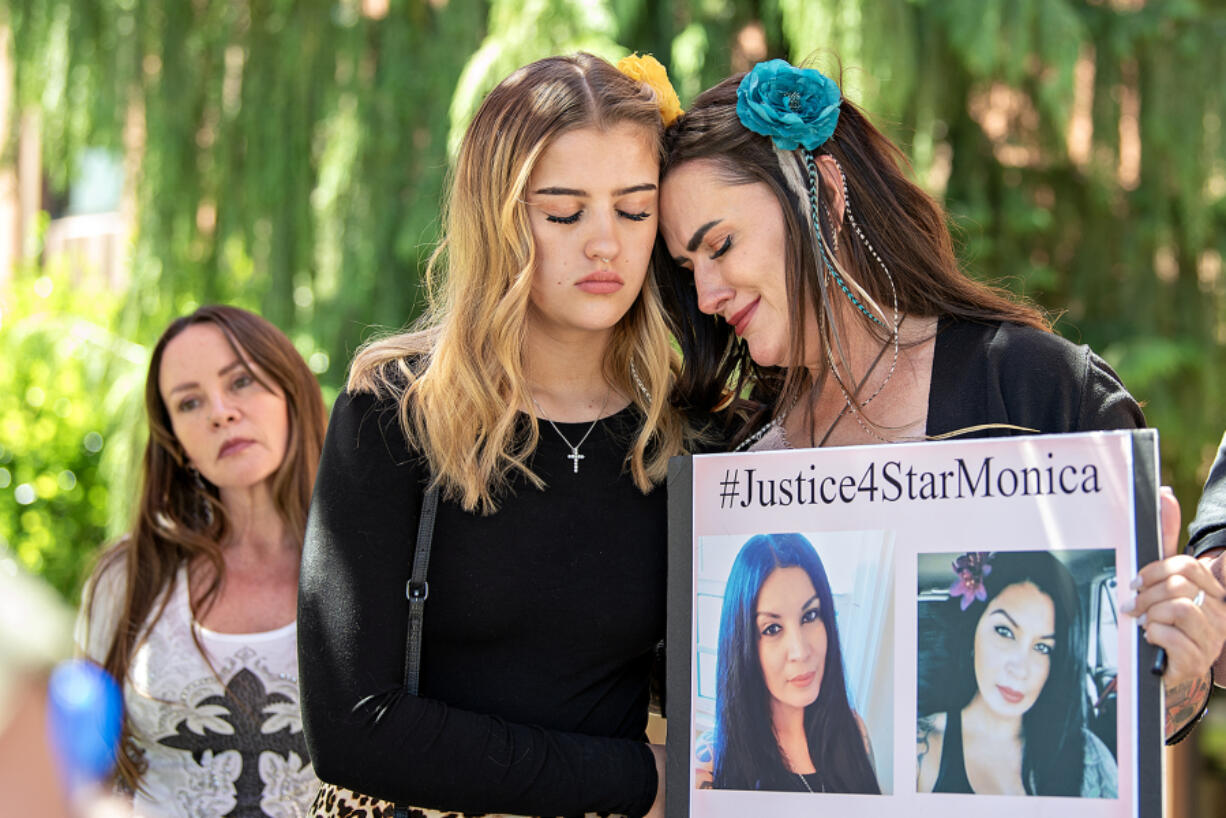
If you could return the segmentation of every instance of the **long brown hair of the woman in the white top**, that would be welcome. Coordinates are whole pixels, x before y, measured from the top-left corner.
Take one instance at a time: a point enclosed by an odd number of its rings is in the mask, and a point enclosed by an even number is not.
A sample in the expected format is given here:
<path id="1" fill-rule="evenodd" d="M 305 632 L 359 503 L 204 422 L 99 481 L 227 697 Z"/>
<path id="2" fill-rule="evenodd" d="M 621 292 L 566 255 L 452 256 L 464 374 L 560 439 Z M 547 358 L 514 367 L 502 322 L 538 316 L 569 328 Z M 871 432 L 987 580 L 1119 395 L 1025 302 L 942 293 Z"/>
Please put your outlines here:
<path id="1" fill-rule="evenodd" d="M 272 498 L 294 541 L 300 543 L 306 529 L 306 509 L 327 424 L 315 375 L 289 338 L 259 315 L 237 307 L 208 305 L 175 319 L 153 347 L 145 379 L 150 437 L 145 444 L 136 520 L 132 530 L 99 559 L 83 600 L 83 610 L 92 614 L 99 578 L 113 568 L 123 569 L 126 587 L 116 606 L 119 624 L 103 661 L 103 667 L 120 681 L 128 675 L 140 639 L 166 610 L 167 590 L 174 584 L 179 565 L 205 559 L 213 569 L 212 581 L 199 598 L 192 600 L 197 616 L 216 600 L 223 579 L 221 543 L 230 533 L 226 506 L 215 486 L 188 470 L 186 455 L 172 430 L 159 384 L 167 345 L 197 324 L 212 324 L 221 330 L 234 354 L 240 361 L 255 363 L 284 394 L 289 432 L 284 459 L 272 475 Z M 251 372 L 251 375 L 271 389 L 257 373 Z M 156 611 L 154 606 L 158 606 Z M 126 720 L 121 747 L 119 775 L 125 785 L 136 787 L 141 764 L 134 754 Z"/>

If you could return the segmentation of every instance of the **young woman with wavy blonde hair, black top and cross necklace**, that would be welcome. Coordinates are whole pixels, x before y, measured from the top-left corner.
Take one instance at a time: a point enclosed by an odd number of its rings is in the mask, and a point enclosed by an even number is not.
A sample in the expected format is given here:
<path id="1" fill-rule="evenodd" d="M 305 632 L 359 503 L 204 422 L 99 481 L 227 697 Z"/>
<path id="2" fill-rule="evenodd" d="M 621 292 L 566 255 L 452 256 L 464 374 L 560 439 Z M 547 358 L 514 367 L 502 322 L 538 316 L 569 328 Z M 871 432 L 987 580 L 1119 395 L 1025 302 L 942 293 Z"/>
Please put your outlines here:
<path id="1" fill-rule="evenodd" d="M 319 813 L 662 814 L 645 741 L 661 483 L 688 435 L 649 267 L 662 99 L 586 54 L 504 80 L 457 157 L 429 318 L 353 362 L 299 607 Z M 430 484 L 414 695 L 406 583 Z"/>

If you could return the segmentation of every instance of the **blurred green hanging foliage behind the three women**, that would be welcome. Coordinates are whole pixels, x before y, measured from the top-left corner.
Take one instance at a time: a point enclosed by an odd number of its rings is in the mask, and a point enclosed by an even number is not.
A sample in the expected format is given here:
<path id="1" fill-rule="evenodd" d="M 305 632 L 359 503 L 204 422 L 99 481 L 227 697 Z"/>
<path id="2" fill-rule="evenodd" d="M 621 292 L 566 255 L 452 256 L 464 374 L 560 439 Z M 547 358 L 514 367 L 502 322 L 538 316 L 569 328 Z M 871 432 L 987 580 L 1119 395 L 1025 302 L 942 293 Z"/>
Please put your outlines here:
<path id="1" fill-rule="evenodd" d="M 1220 1 L 0 0 L 0 25 L 54 185 L 85 146 L 139 146 L 128 289 L 33 262 L 0 285 L 0 545 L 67 596 L 128 522 L 161 329 L 257 309 L 335 394 L 421 308 L 471 112 L 559 52 L 655 53 L 683 102 L 813 58 L 945 201 L 967 269 L 1118 368 L 1186 518 L 1226 426 Z"/>

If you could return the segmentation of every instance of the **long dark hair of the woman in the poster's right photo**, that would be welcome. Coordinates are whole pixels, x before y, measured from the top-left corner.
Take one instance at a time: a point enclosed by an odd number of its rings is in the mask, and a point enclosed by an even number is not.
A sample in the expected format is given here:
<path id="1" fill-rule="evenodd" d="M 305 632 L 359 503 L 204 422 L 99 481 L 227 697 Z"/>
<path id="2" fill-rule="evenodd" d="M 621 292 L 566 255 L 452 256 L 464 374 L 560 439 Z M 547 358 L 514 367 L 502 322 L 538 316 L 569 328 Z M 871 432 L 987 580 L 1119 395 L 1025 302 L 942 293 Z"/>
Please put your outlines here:
<path id="1" fill-rule="evenodd" d="M 998 552 L 984 578 L 988 597 L 965 611 L 961 598 L 942 605 L 942 638 L 921 650 L 921 715 L 961 710 L 975 681 L 975 630 L 1007 587 L 1030 583 L 1052 600 L 1056 645 L 1047 683 L 1021 716 L 1021 782 L 1029 795 L 1079 796 L 1085 773 L 1086 623 L 1073 575 L 1046 551 Z M 938 672 L 939 671 L 939 672 Z"/>

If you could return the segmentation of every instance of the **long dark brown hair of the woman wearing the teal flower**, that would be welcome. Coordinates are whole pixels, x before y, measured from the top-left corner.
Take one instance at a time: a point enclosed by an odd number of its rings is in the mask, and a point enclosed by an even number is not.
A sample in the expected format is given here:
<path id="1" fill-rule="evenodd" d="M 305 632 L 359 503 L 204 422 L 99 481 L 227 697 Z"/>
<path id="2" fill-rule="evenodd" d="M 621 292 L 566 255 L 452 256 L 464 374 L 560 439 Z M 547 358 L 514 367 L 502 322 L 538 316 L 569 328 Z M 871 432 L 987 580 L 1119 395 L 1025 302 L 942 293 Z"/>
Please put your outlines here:
<path id="1" fill-rule="evenodd" d="M 783 248 L 787 281 L 791 358 L 786 367 L 761 367 L 749 357 L 748 346 L 739 341 L 727 323 L 704 315 L 698 308 L 693 275 L 677 265 L 656 242 L 656 271 L 661 294 L 682 347 L 683 370 L 674 401 L 683 408 L 705 411 L 732 394 L 752 389 L 759 417 L 798 402 L 802 394 L 823 385 L 828 372 L 810 377 L 802 358 L 804 351 L 805 310 L 818 315 L 823 343 L 832 343 L 834 327 L 825 319 L 819 287 L 820 266 L 814 243 L 809 240 L 808 217 L 788 186 L 779 155 L 771 140 L 745 129 L 737 118 L 737 87 L 744 75 L 737 74 L 702 92 L 689 110 L 664 134 L 664 163 L 661 184 L 679 166 L 694 159 L 715 163 L 726 184 L 761 183 L 779 200 L 788 237 Z M 839 125 L 834 135 L 817 151 L 834 157 L 847 179 L 847 207 L 864 237 L 872 243 L 894 276 L 901 314 L 917 316 L 953 315 L 971 320 L 1004 320 L 1048 330 L 1042 314 L 1004 291 L 970 278 L 959 269 L 945 212 L 932 196 L 912 183 L 905 173 L 902 151 L 886 139 L 864 114 L 846 98 L 840 103 Z M 836 191 L 821 178 L 819 196 L 826 213 L 835 212 Z M 823 224 L 828 245 L 834 234 Z M 840 264 L 879 304 L 893 304 L 894 291 L 880 266 L 843 221 L 839 243 Z M 863 324 L 886 342 L 884 330 L 858 315 Z M 808 406 L 809 402 L 801 401 Z M 749 428 L 747 428 L 749 430 Z"/>

